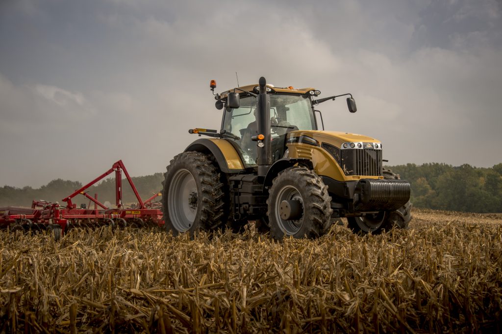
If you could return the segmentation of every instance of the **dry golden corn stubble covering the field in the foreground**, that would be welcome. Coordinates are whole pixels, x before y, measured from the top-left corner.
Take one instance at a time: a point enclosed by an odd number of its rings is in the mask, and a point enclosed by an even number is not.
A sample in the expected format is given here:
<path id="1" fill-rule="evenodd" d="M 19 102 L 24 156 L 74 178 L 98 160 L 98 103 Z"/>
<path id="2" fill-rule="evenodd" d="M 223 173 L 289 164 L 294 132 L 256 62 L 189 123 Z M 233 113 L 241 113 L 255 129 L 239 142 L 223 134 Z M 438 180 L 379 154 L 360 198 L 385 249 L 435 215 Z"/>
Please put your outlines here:
<path id="1" fill-rule="evenodd" d="M 0 232 L 2 332 L 500 332 L 502 217 L 415 210 L 411 230 Z"/>

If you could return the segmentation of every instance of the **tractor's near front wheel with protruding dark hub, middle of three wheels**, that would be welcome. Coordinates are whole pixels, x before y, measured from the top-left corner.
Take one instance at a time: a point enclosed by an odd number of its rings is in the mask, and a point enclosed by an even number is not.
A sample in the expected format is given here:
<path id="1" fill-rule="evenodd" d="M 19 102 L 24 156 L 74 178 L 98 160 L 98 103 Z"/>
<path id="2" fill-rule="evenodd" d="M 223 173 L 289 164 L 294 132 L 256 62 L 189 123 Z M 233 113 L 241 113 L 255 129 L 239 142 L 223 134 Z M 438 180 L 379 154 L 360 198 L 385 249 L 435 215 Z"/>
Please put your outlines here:
<path id="1" fill-rule="evenodd" d="M 317 238 L 331 226 L 331 197 L 322 179 L 305 167 L 290 167 L 274 179 L 267 200 L 270 234 L 276 239 Z"/>

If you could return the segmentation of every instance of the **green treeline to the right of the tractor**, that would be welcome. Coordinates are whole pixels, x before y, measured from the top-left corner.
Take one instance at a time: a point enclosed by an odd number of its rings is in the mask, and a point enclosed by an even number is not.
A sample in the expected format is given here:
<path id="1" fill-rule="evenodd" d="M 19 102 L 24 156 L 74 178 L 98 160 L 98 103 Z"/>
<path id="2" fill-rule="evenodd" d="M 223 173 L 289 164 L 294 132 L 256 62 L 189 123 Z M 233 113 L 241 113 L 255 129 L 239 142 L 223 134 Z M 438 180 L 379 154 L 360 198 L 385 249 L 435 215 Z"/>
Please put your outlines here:
<path id="1" fill-rule="evenodd" d="M 412 185 L 415 207 L 466 212 L 502 212 L 502 163 L 492 168 L 443 163 L 390 166 Z"/>

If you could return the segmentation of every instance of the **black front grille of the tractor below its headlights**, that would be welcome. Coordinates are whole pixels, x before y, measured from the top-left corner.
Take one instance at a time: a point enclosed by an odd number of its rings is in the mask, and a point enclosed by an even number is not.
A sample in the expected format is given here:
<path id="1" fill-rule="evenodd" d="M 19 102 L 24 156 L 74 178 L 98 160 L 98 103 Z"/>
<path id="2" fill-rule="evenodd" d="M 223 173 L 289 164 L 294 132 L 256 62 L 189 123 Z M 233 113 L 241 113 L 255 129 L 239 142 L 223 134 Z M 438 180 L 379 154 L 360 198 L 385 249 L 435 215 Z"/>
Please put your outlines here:
<path id="1" fill-rule="evenodd" d="M 382 150 L 341 150 L 341 158 L 341 167 L 347 176 L 382 176 Z"/>

